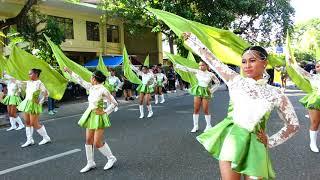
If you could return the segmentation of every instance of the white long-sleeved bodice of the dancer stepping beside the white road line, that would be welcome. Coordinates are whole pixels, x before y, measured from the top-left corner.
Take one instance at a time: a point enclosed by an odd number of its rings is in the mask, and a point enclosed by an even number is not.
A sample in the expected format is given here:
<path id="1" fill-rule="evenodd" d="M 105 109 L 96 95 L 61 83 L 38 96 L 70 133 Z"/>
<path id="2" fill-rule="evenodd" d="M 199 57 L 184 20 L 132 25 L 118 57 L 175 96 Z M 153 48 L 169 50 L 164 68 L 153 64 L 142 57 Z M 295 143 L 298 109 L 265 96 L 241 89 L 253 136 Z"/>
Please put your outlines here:
<path id="1" fill-rule="evenodd" d="M 104 109 L 104 112 L 110 114 L 113 109 L 118 105 L 117 101 L 110 94 L 110 92 L 103 86 L 103 84 L 92 85 L 89 82 L 83 80 L 80 76 L 75 73 L 71 73 L 72 78 L 74 78 L 82 87 L 89 91 L 88 102 L 89 109 L 94 110 L 98 108 L 99 101 L 103 100 L 110 104 L 107 108 Z"/>

